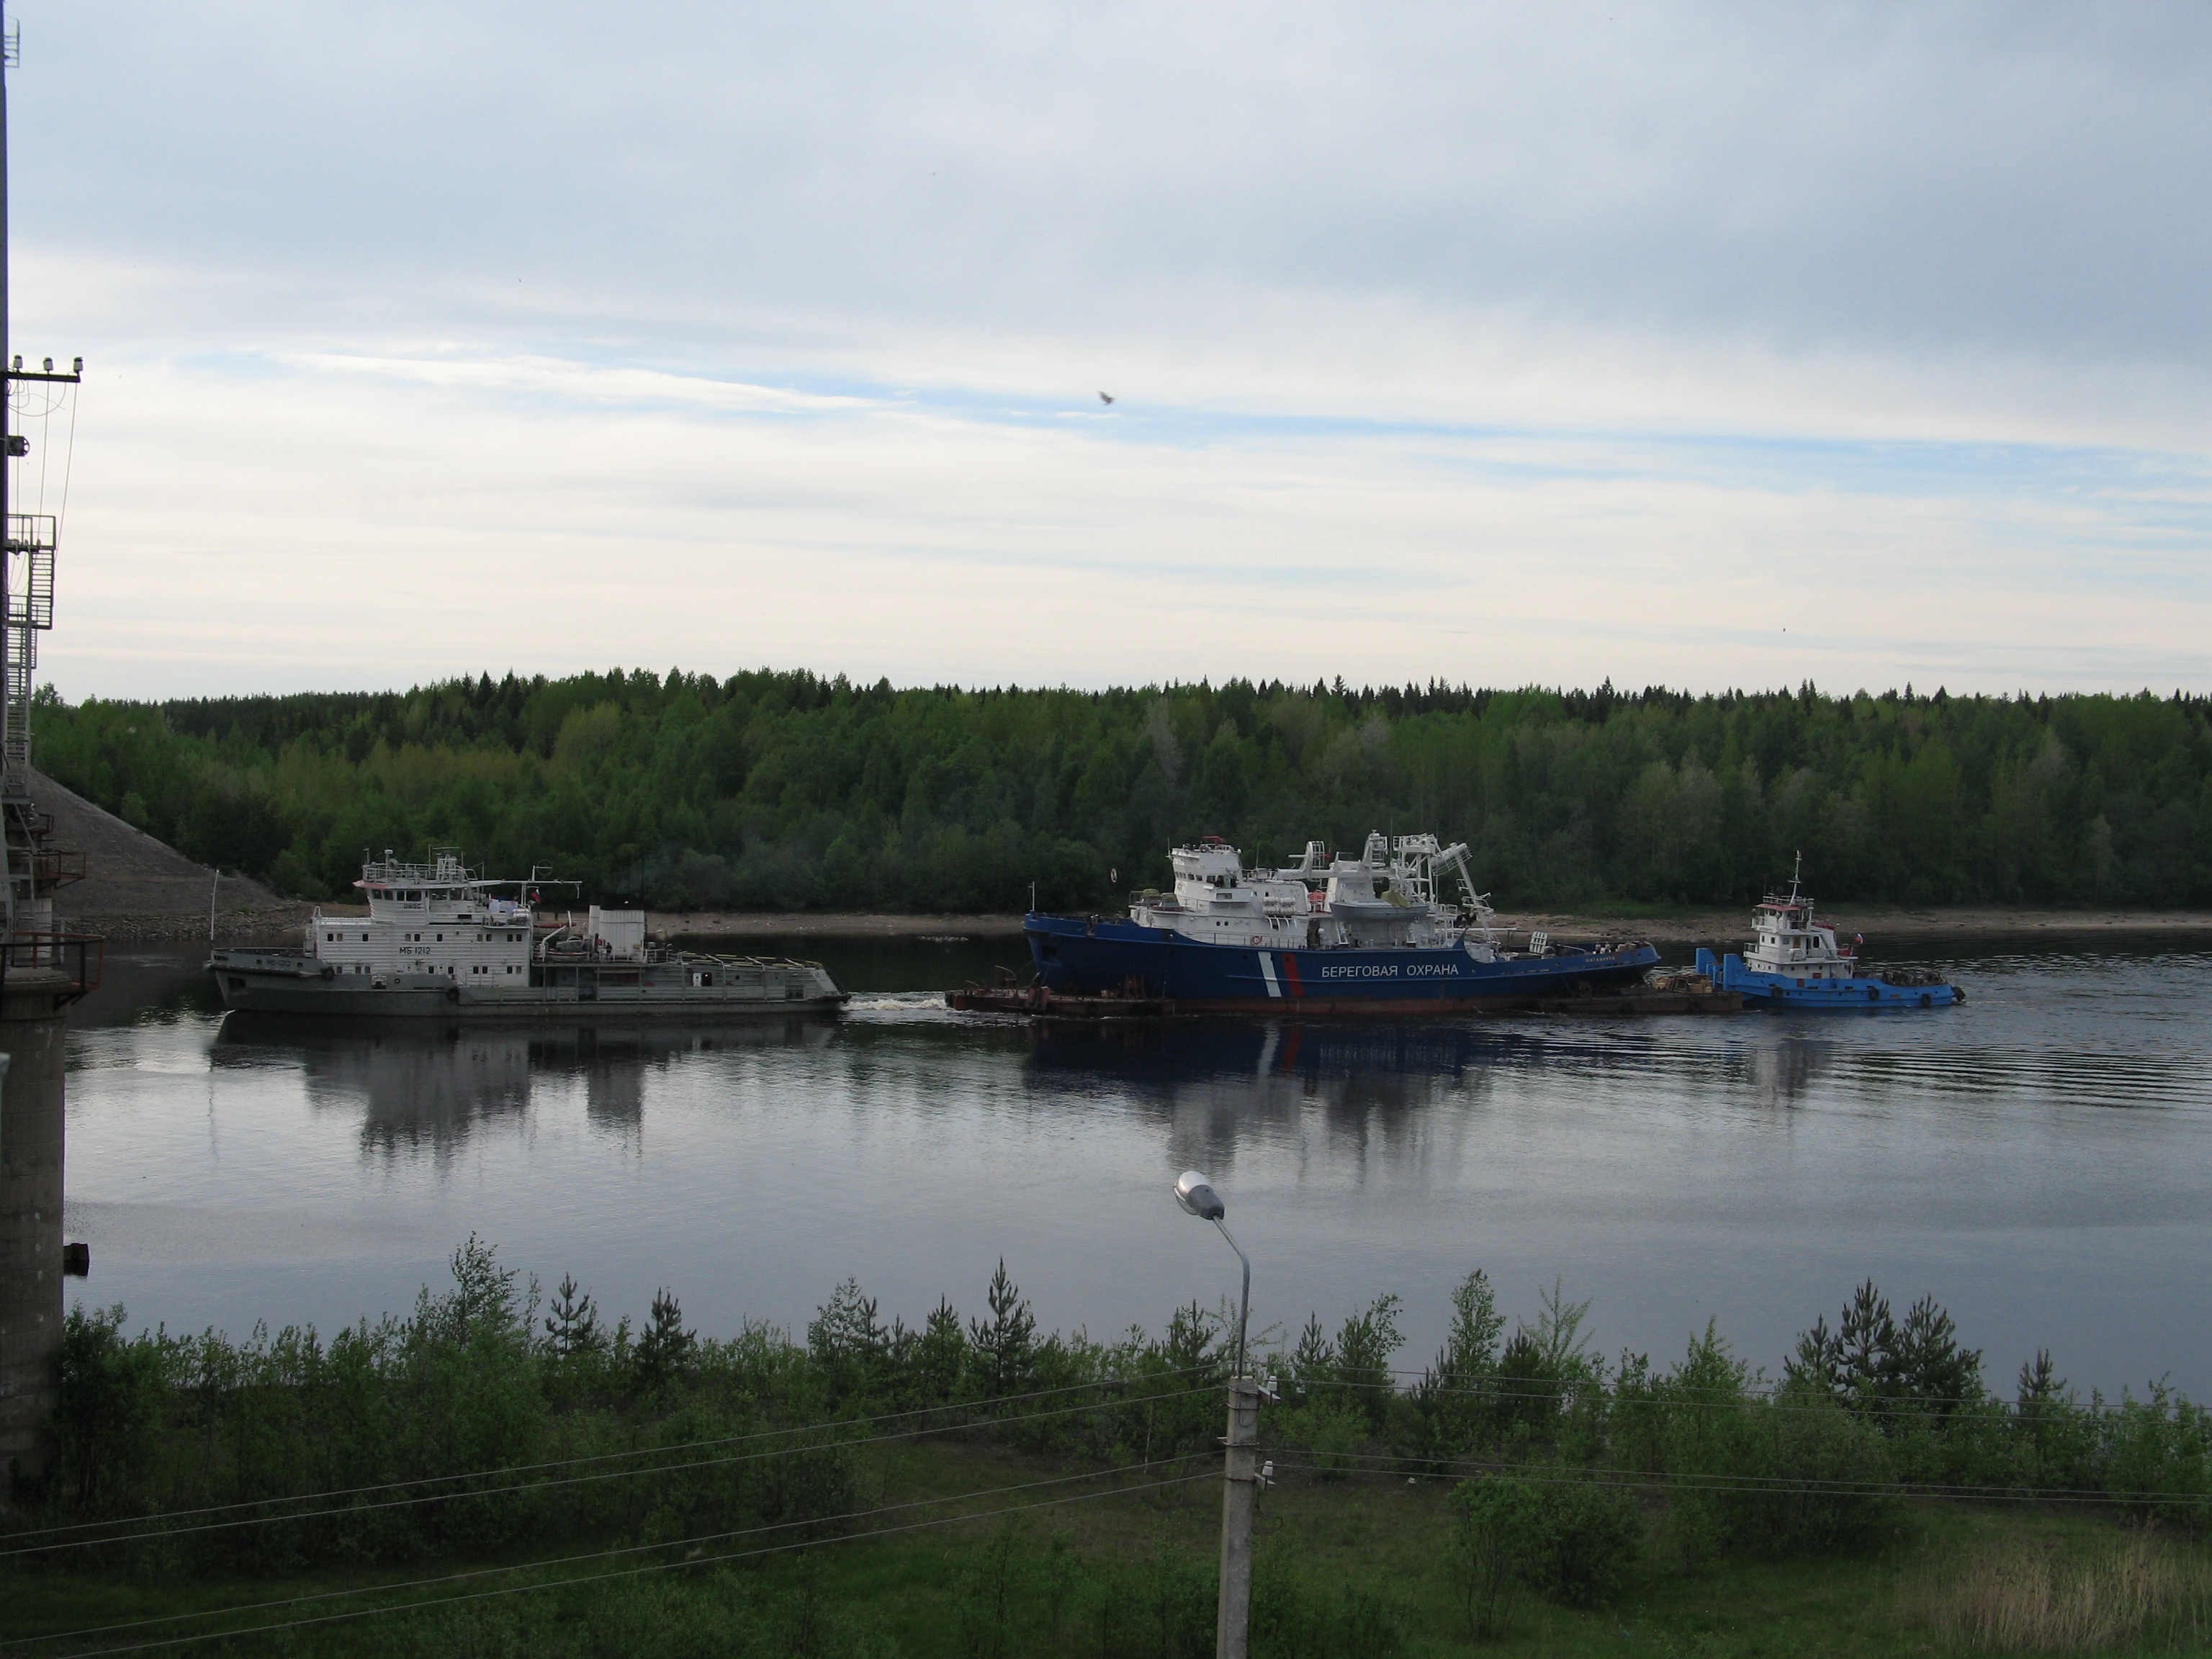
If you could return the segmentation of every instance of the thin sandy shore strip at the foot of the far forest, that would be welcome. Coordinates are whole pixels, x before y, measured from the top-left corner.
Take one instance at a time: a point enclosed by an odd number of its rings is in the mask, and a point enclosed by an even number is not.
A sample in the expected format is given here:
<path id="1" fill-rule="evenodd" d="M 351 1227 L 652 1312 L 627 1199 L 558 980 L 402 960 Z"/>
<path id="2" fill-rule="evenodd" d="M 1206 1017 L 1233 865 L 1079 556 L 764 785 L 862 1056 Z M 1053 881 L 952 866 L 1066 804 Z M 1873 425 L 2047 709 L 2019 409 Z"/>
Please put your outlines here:
<path id="1" fill-rule="evenodd" d="M 1747 909 L 1681 916 L 1502 916 L 1515 931 L 1546 929 L 1559 938 L 1648 938 L 1655 945 L 1705 945 L 1750 933 Z M 1845 933 L 1874 938 L 2112 938 L 2119 933 L 2212 936 L 2208 911 L 2073 911 L 2073 909 L 1854 909 L 1820 914 Z M 1020 916 L 849 916 L 684 911 L 648 918 L 655 933 L 677 938 L 1009 938 Z"/>

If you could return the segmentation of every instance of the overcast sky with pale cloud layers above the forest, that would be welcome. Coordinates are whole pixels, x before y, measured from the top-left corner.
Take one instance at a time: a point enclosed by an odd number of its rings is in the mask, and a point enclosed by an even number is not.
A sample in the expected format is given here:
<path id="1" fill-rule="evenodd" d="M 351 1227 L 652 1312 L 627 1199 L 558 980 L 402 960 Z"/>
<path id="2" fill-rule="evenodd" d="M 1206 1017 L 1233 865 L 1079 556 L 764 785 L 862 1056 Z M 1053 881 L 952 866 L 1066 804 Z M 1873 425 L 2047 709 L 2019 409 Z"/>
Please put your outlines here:
<path id="1" fill-rule="evenodd" d="M 11 18 L 73 699 L 2212 690 L 2201 0 Z"/>

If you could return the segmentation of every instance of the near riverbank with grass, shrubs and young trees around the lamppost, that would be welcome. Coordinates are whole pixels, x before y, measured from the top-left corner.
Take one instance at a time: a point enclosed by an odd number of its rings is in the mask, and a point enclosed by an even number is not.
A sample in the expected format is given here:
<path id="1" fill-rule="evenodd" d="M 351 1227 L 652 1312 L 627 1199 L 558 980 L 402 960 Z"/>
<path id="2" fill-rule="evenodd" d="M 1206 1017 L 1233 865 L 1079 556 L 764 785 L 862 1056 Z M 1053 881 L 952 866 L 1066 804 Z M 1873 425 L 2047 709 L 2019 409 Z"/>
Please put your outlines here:
<path id="1" fill-rule="evenodd" d="M 1389 1294 L 1265 1352 L 1263 1659 L 2212 1630 L 2212 1416 L 2166 1389 L 2084 1402 L 2037 1354 L 2002 1398 L 1942 1307 L 1874 1285 L 1778 1378 L 1717 1329 L 1608 1360 L 1557 1287 L 1511 1334 L 1480 1272 L 1451 1301 L 1422 1369 Z M 473 1239 L 411 1316 L 327 1340 L 73 1312 L 0 1639 L 1201 1655 L 1225 1358 L 1199 1307 L 1042 1334 L 1004 1270 L 973 1318 L 885 1325 L 845 1283 L 803 1340 L 703 1338 L 670 1294 L 608 1325 Z"/>

